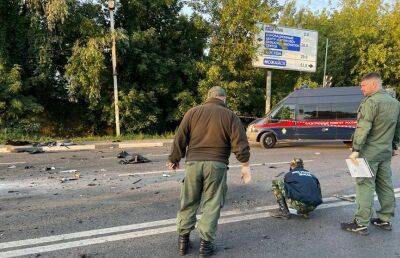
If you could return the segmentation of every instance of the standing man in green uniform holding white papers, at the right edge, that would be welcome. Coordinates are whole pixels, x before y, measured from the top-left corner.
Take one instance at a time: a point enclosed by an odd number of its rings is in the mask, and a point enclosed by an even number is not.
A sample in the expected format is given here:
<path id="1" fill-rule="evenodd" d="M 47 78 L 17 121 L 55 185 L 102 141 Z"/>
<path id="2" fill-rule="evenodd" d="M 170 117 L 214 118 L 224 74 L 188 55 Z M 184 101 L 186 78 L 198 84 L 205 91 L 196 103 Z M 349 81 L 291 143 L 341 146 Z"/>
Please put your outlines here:
<path id="1" fill-rule="evenodd" d="M 350 155 L 355 165 L 357 158 L 365 158 L 374 174 L 371 178 L 356 178 L 357 211 L 354 220 L 341 223 L 346 231 L 367 235 L 368 225 L 391 230 L 394 217 L 395 196 L 390 163 L 393 146 L 399 143 L 399 102 L 382 89 L 378 73 L 369 73 L 361 81 L 365 98 L 358 108 L 357 128 L 353 136 L 353 152 Z M 372 218 L 374 192 L 378 195 L 381 209 Z"/>

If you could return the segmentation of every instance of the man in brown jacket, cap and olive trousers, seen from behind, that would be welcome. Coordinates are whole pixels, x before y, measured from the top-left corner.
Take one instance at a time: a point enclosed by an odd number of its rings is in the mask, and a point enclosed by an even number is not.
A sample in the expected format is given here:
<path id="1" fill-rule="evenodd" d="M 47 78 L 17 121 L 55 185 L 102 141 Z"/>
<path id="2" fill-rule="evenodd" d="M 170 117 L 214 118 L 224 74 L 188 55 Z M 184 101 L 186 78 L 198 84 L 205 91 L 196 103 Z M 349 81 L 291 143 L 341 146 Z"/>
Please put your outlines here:
<path id="1" fill-rule="evenodd" d="M 195 227 L 199 207 L 199 254 L 204 257 L 215 252 L 213 241 L 225 202 L 231 151 L 242 164 L 243 181 L 250 181 L 250 147 L 240 119 L 226 107 L 223 88 L 211 88 L 207 97 L 203 105 L 190 109 L 183 117 L 167 163 L 169 169 L 176 169 L 181 158 L 186 156 L 181 208 L 177 215 L 179 255 L 187 253 L 189 235 Z"/>

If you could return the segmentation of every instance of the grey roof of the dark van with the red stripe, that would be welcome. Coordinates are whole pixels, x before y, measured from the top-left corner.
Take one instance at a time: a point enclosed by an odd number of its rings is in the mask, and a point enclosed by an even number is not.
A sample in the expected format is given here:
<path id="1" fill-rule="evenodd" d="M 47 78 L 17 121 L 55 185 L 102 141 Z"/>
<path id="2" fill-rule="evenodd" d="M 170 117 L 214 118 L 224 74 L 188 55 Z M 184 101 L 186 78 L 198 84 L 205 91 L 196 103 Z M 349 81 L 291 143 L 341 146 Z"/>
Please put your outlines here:
<path id="1" fill-rule="evenodd" d="M 360 87 L 333 87 L 299 89 L 290 93 L 285 100 L 287 104 L 349 103 L 361 102 L 363 98 Z"/>

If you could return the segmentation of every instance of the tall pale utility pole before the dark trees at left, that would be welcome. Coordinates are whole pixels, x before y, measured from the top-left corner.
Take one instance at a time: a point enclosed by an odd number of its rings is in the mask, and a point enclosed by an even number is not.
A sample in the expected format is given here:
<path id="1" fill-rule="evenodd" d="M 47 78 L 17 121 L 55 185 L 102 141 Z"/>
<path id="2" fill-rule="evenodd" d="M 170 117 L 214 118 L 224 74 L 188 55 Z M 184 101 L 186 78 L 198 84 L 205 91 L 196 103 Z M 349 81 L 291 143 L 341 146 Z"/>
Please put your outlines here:
<path id="1" fill-rule="evenodd" d="M 119 107 L 118 107 L 118 84 L 117 84 L 117 52 L 115 49 L 115 30 L 114 30 L 114 10 L 115 1 L 108 0 L 108 9 L 110 10 L 110 25 L 111 25 L 111 59 L 113 68 L 113 80 L 114 80 L 114 107 L 115 107 L 115 132 L 117 137 L 120 136 L 119 127 Z"/>

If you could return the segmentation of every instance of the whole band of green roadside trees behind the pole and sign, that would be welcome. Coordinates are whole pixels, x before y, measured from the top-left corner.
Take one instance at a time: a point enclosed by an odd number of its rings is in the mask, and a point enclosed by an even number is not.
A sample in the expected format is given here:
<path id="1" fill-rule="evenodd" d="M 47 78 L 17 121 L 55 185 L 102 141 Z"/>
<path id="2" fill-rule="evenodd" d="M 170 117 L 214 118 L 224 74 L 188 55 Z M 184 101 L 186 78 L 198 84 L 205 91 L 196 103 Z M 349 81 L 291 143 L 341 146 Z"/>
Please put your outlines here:
<path id="1" fill-rule="evenodd" d="M 272 104 L 302 84 L 322 84 L 326 38 L 333 86 L 377 71 L 400 90 L 398 0 L 343 0 L 320 11 L 295 1 L 185 1 L 190 16 L 183 2 L 117 1 L 124 139 L 169 137 L 215 85 L 239 116 L 263 116 L 265 74 L 251 65 L 258 22 L 319 32 L 316 73 L 273 71 Z M 1 1 L 0 17 L 0 141 L 114 139 L 107 1 Z"/>

